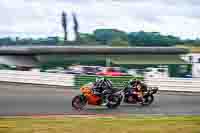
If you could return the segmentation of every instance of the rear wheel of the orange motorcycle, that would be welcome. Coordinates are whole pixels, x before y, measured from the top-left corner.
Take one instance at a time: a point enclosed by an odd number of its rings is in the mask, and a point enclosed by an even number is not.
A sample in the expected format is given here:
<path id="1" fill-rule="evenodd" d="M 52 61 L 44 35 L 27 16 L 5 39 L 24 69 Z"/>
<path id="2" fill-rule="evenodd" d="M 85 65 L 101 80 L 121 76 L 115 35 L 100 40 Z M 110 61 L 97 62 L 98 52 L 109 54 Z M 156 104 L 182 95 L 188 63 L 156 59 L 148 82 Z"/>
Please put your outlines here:
<path id="1" fill-rule="evenodd" d="M 114 102 L 114 103 L 112 103 Z M 108 97 L 108 104 L 106 105 L 109 109 L 117 108 L 121 104 L 120 95 L 110 95 Z"/>

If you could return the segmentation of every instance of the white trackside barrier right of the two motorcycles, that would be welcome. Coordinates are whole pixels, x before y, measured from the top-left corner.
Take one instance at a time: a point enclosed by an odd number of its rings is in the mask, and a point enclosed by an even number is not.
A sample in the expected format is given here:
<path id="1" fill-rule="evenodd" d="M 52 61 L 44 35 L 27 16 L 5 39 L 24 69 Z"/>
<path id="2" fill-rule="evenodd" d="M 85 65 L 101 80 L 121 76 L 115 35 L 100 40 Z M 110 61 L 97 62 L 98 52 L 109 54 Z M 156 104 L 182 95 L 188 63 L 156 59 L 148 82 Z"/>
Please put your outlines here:
<path id="1" fill-rule="evenodd" d="M 144 81 L 159 90 L 200 92 L 200 79 L 196 78 L 145 78 Z"/>

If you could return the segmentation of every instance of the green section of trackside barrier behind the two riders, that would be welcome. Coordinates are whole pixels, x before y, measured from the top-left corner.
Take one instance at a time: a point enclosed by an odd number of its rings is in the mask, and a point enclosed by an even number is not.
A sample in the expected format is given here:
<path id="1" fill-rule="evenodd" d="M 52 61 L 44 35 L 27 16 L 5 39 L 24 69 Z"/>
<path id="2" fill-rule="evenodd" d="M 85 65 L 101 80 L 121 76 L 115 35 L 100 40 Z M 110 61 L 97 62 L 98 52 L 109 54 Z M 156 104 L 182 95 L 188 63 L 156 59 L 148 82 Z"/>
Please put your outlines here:
<path id="1" fill-rule="evenodd" d="M 89 83 L 94 82 L 96 80 L 97 76 L 76 76 L 75 77 L 75 88 L 79 89 L 80 86 Z M 140 79 L 143 80 L 143 77 L 133 77 L 133 76 L 119 76 L 119 77 L 106 77 L 107 79 L 110 79 L 113 83 L 113 87 L 115 88 L 123 88 L 125 85 L 127 85 L 127 82 L 130 79 Z"/>

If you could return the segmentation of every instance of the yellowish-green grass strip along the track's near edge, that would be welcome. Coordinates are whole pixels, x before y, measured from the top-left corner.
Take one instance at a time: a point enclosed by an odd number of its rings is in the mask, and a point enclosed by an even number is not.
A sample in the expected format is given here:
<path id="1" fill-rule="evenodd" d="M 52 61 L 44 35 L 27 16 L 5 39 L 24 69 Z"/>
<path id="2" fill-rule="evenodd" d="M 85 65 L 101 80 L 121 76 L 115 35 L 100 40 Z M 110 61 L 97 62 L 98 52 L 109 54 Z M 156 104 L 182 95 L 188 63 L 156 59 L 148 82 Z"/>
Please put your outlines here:
<path id="1" fill-rule="evenodd" d="M 0 133 L 200 133 L 200 116 L 0 118 Z"/>

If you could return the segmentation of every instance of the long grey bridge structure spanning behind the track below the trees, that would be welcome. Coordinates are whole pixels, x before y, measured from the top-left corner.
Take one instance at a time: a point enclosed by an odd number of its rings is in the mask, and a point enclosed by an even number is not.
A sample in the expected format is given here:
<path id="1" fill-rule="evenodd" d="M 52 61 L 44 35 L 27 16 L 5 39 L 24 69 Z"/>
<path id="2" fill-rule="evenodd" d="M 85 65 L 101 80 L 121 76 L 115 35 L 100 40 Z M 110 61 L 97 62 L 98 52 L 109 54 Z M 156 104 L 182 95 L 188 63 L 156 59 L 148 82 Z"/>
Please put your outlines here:
<path id="1" fill-rule="evenodd" d="M 0 63 L 35 67 L 51 58 L 67 60 L 102 59 L 114 64 L 185 64 L 176 47 L 92 47 L 92 46 L 7 46 L 0 47 Z"/>

